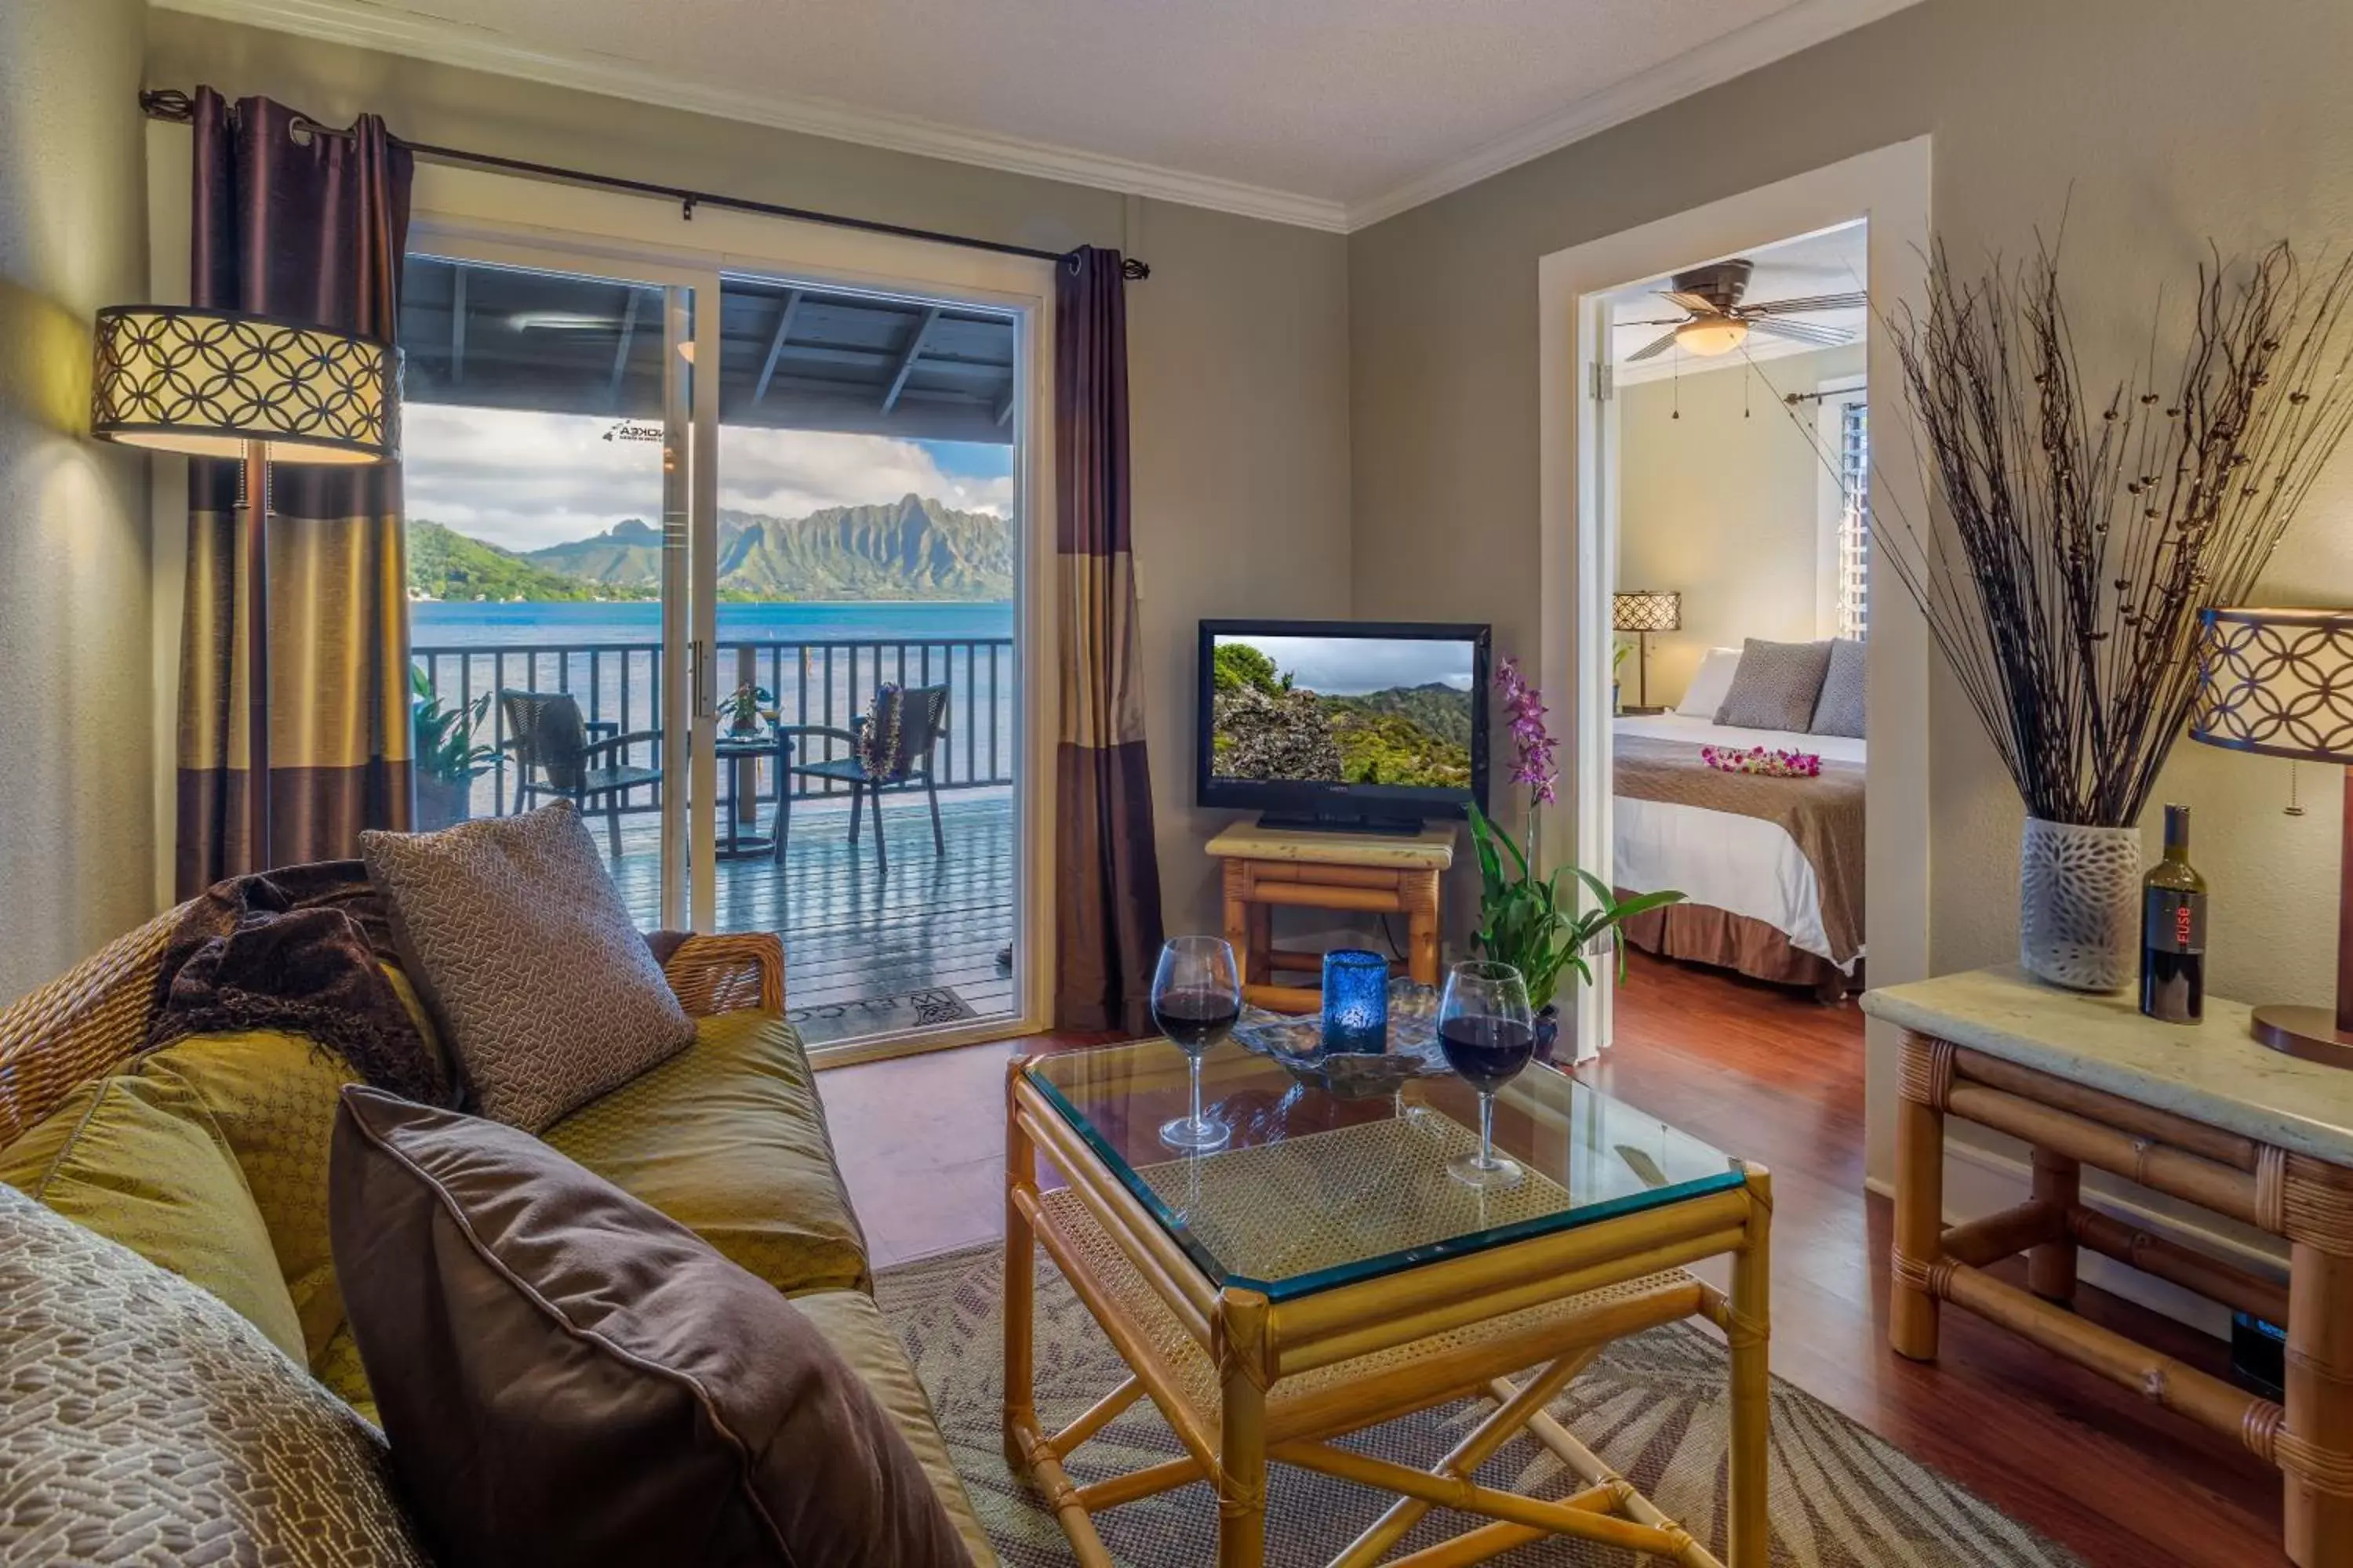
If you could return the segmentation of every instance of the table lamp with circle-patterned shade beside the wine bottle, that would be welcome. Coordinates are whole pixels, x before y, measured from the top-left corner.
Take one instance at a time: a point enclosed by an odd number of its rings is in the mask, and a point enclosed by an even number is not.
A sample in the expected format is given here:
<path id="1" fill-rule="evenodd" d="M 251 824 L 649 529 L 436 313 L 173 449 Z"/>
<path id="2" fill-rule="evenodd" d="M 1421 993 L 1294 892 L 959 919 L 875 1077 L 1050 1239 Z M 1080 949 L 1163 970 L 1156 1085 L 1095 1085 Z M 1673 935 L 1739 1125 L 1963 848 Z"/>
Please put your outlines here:
<path id="1" fill-rule="evenodd" d="M 2337 877 L 2337 1011 L 2254 1009 L 2254 1037 L 2308 1063 L 2353 1067 L 2353 609 L 2198 611 L 2191 741 L 2346 766 Z"/>

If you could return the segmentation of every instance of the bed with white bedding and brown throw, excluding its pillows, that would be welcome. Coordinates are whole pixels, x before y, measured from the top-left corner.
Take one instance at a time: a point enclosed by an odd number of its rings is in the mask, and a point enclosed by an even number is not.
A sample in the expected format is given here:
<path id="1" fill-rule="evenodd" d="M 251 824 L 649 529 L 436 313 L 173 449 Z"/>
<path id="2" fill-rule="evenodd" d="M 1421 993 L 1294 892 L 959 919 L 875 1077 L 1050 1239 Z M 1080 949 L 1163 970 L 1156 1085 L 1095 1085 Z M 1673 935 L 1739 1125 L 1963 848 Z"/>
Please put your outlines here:
<path id="1" fill-rule="evenodd" d="M 1859 990 L 1866 743 L 1680 712 L 1612 724 L 1617 886 L 1689 896 L 1628 922 L 1628 940 L 1824 999 Z M 1701 745 L 1814 752 L 1821 778 L 1722 773 L 1699 759 Z"/>

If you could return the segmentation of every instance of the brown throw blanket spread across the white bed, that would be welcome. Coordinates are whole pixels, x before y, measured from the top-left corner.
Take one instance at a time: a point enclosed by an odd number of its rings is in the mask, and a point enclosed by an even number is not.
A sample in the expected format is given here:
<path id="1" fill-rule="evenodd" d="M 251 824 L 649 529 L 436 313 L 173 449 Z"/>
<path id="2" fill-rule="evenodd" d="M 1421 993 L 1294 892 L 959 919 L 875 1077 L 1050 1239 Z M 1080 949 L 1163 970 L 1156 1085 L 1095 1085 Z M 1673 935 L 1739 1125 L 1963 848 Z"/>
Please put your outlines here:
<path id="1" fill-rule="evenodd" d="M 1864 950 L 1861 764 L 1824 762 L 1819 778 L 1725 773 L 1701 762 L 1697 745 L 1619 736 L 1614 792 L 1774 823 L 1814 867 L 1831 957 L 1847 964 Z"/>

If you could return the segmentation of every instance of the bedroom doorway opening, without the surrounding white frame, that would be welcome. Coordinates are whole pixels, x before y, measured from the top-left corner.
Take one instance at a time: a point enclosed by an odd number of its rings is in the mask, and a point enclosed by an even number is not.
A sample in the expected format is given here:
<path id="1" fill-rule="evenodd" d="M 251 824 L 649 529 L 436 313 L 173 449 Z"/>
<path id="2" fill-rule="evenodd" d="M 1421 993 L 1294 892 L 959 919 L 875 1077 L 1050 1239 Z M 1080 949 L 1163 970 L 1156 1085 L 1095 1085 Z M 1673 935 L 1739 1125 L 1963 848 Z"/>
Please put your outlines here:
<path id="1" fill-rule="evenodd" d="M 1845 1009 L 1864 980 L 1866 280 L 1852 221 L 1595 301 L 1612 882 L 1685 893 L 1626 929 L 1685 1004 Z"/>

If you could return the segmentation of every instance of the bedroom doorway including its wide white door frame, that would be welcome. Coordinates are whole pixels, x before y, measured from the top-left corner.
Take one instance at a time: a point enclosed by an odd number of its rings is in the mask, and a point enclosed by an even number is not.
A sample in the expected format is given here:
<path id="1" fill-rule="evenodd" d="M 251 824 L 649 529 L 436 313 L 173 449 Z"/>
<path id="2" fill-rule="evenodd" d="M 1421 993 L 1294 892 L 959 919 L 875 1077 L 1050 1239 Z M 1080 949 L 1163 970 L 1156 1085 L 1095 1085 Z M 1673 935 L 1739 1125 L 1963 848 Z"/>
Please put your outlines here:
<path id="1" fill-rule="evenodd" d="M 1882 324 L 1927 247 L 1918 139 L 1539 259 L 1548 842 L 1689 893 L 1579 987 L 1577 1056 L 1635 1103 L 1800 1117 L 1857 1178 L 1892 1166 L 1894 1039 L 1842 997 L 1927 973 L 1927 635 L 1868 538 L 1875 491 L 1918 494 Z"/>

